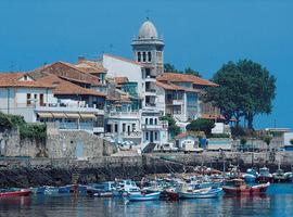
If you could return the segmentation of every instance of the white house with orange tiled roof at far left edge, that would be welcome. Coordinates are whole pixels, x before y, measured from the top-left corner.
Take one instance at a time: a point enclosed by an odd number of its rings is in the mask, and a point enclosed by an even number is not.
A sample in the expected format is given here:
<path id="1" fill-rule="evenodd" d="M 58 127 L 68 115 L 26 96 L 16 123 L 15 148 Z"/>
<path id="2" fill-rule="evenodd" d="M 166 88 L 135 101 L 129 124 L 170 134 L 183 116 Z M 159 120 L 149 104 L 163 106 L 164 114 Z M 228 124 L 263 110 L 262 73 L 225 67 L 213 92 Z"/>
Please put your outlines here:
<path id="1" fill-rule="evenodd" d="M 56 103 L 53 86 L 43 84 L 26 73 L 0 73 L 0 112 L 24 116 L 37 122 L 36 107 Z"/>

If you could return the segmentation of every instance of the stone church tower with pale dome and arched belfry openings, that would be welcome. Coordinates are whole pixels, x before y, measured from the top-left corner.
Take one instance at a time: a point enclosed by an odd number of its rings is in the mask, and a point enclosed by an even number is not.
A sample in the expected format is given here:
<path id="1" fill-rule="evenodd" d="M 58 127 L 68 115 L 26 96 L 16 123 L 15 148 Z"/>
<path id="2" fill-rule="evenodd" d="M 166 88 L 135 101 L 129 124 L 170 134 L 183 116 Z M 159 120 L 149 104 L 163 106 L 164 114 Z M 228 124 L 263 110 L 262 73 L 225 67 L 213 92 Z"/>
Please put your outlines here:
<path id="1" fill-rule="evenodd" d="M 132 40 L 131 46 L 136 61 L 145 66 L 146 75 L 156 77 L 164 73 L 163 50 L 165 44 L 149 18 L 141 25 L 139 35 Z"/>

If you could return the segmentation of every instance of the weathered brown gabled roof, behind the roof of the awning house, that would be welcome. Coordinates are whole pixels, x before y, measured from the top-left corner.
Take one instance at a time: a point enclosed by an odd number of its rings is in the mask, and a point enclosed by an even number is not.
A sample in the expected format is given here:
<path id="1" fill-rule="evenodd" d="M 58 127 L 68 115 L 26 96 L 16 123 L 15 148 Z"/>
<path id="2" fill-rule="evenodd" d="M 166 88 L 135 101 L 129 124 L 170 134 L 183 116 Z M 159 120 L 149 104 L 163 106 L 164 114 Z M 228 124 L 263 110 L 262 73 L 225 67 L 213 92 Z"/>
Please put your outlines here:
<path id="1" fill-rule="evenodd" d="M 76 67 L 74 64 L 65 63 L 65 62 L 56 62 L 50 65 L 46 65 L 43 67 L 39 67 L 34 72 L 44 72 L 49 74 L 56 75 L 66 80 L 71 80 L 74 82 L 88 84 L 91 86 L 100 86 L 99 78 L 85 72 L 81 68 Z"/>

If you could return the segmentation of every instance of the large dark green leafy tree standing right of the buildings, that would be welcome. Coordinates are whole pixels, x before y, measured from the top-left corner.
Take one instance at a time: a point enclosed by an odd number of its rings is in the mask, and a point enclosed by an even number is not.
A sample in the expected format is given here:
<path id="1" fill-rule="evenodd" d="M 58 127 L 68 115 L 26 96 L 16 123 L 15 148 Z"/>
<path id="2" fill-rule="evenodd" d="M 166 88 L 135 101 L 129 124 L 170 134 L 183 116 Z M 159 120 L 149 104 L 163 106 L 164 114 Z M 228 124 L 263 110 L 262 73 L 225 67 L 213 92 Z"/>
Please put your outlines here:
<path id="1" fill-rule="evenodd" d="M 255 115 L 271 113 L 276 78 L 260 64 L 250 60 L 228 62 L 212 80 L 219 86 L 207 88 L 205 101 L 219 107 L 227 123 L 234 117 L 239 126 L 244 117 L 253 129 Z"/>

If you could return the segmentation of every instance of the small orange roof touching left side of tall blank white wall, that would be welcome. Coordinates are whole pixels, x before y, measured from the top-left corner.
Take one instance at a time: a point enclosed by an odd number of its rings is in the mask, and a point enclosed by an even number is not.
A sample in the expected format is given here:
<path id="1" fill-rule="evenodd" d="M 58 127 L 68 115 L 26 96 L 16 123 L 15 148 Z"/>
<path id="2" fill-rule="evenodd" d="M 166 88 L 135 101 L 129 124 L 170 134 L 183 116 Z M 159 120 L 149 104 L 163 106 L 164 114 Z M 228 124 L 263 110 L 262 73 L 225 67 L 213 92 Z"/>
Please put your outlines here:
<path id="1" fill-rule="evenodd" d="M 82 60 L 81 62 L 75 64 L 75 67 L 92 75 L 106 73 L 106 68 L 104 68 L 103 64 L 95 61 Z"/>

